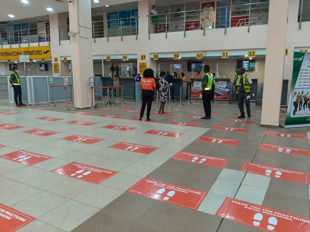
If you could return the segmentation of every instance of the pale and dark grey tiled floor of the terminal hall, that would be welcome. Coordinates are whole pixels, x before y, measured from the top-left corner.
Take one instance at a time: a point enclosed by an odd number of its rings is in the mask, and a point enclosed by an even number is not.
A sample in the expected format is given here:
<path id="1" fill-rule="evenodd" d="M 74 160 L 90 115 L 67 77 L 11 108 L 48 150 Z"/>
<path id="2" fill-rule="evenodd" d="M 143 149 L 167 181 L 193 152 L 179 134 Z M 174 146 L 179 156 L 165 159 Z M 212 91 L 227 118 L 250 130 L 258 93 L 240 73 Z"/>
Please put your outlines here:
<path id="1" fill-rule="evenodd" d="M 126 109 L 114 106 L 111 107 L 113 110 L 79 110 L 91 113 L 88 115 L 62 111 L 62 103 L 55 107 L 15 108 L 7 101 L 0 102 L 0 111 L 19 113 L 0 113 L 0 124 L 23 126 L 13 130 L 0 128 L 0 145 L 5 146 L 0 148 L 0 208 L 11 207 L 35 218 L 19 231 L 267 230 L 267 227 L 255 228 L 252 211 L 246 214 L 238 210 L 230 212 L 232 217 L 247 217 L 240 223 L 219 217 L 218 211 L 224 207 L 227 198 L 309 217 L 309 155 L 278 150 L 279 146 L 309 150 L 309 140 L 265 135 L 266 131 L 275 131 L 307 136 L 306 128 L 260 127 L 260 108 L 251 109 L 252 114 L 258 115 L 250 119 L 253 123 L 224 121 L 237 118 L 232 115 L 238 113 L 237 105 L 213 104 L 212 111 L 219 114 L 212 114 L 211 120 L 186 117 L 199 115 L 197 111 L 203 110 L 201 104 L 178 106 L 171 103 L 173 109 L 185 111 L 168 111 L 175 114 L 173 116 L 151 115 L 157 122 L 139 122 L 131 120 L 139 117 L 137 113 L 123 110 L 139 111 L 140 103 L 126 101 L 132 105 Z M 34 110 L 35 107 L 48 110 Z M 102 114 L 122 117 L 97 117 Z M 61 120 L 37 119 L 41 117 Z M 92 123 L 89 126 L 67 123 L 73 120 Z M 169 124 L 171 121 L 199 125 Z M 107 125 L 135 129 L 103 128 Z M 211 129 L 214 126 L 224 128 Z M 236 131 L 236 128 L 248 131 Z M 32 129 L 59 133 L 49 136 L 23 133 Z M 150 130 L 162 131 L 162 134 L 144 133 Z M 181 135 L 169 137 L 165 132 Z M 71 135 L 79 135 L 80 142 L 63 139 Z M 196 140 L 200 136 L 216 138 L 216 141 Z M 88 144 L 89 137 L 101 141 Z M 226 140 L 239 142 L 237 145 L 225 144 Z M 120 142 L 129 145 L 126 149 L 110 148 Z M 135 144 L 141 146 L 136 148 Z M 275 150 L 259 149 L 261 144 L 278 147 Z M 145 149 L 150 146 L 156 149 L 148 153 Z M 17 156 L 15 160 L 7 157 L 18 150 L 29 152 L 29 162 L 36 158 L 34 156 L 43 157 L 43 160 L 27 165 L 27 156 Z M 37 154 L 33 156 L 33 153 Z M 183 158 L 175 157 L 177 153 Z M 250 164 L 244 166 L 245 162 Z M 75 163 L 76 170 L 63 168 L 60 172 L 52 172 L 71 163 Z M 281 169 L 281 174 L 276 168 Z M 88 170 L 91 171 L 87 173 Z M 293 174 L 289 170 L 293 170 Z M 108 175 L 109 172 L 113 174 Z M 96 175 L 107 177 L 96 182 L 92 179 Z M 147 185 L 151 182 L 155 184 Z M 127 191 L 139 183 L 146 184 L 135 193 Z M 171 191 L 174 193 L 160 187 L 165 184 L 170 190 L 174 189 Z M 185 191 L 187 195 L 179 197 Z M 195 192 L 199 192 L 198 198 L 194 197 Z M 191 207 L 191 202 L 197 202 L 197 207 Z M 250 224 L 245 222 L 248 219 Z M 278 225 L 270 231 L 283 231 L 281 228 Z M 310 230 L 309 226 L 300 228 L 298 231 Z"/>

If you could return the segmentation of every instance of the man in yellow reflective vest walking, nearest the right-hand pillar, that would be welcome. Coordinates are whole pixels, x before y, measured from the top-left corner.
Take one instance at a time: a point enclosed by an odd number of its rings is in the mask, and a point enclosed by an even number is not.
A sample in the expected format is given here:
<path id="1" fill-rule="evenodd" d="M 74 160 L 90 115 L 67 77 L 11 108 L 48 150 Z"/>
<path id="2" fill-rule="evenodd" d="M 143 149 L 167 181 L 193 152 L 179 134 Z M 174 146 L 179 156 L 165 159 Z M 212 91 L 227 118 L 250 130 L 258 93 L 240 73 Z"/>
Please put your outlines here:
<path id="1" fill-rule="evenodd" d="M 238 118 L 245 118 L 245 113 L 243 110 L 243 104 L 246 103 L 246 112 L 248 113 L 248 118 L 251 117 L 250 110 L 250 98 L 254 97 L 252 80 L 249 74 L 246 74 L 246 69 L 244 67 L 239 70 L 240 75 L 237 80 L 237 94 L 238 94 L 238 105 L 240 110 L 240 116 Z"/>

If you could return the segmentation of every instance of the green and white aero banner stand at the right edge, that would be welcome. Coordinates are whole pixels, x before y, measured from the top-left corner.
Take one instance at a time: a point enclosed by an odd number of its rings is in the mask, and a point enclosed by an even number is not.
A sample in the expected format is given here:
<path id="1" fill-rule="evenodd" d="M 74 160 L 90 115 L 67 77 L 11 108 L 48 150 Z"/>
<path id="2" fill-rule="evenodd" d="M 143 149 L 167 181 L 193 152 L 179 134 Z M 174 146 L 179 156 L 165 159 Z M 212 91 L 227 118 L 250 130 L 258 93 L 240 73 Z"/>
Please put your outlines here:
<path id="1" fill-rule="evenodd" d="M 294 52 L 293 75 L 285 124 L 310 126 L 310 53 Z"/>

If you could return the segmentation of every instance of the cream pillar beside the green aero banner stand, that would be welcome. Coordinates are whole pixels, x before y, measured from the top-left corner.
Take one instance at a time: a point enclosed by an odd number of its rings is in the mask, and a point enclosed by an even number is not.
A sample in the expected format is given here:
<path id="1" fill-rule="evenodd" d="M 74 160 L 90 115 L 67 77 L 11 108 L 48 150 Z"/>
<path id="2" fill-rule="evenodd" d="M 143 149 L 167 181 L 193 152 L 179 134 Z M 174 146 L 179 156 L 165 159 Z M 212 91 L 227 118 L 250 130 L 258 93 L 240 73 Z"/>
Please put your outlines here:
<path id="1" fill-rule="evenodd" d="M 288 2 L 269 2 L 261 126 L 279 126 Z"/>

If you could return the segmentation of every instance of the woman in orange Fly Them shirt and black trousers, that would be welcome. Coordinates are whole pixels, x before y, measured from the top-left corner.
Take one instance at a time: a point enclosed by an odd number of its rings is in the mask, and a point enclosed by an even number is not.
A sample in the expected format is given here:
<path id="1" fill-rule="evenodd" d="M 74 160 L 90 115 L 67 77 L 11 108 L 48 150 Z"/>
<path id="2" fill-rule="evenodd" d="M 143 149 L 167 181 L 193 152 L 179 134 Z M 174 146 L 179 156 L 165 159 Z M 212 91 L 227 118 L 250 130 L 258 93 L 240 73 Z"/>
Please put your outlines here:
<path id="1" fill-rule="evenodd" d="M 145 106 L 147 106 L 146 110 L 146 121 L 151 120 L 150 114 L 151 114 L 151 107 L 152 107 L 152 101 L 154 96 L 154 91 L 156 89 L 155 79 L 154 79 L 154 71 L 150 68 L 145 69 L 143 73 L 143 77 L 140 81 L 140 86 L 142 88 L 142 106 L 140 111 L 140 118 L 141 121 L 144 115 Z"/>

